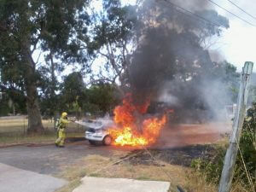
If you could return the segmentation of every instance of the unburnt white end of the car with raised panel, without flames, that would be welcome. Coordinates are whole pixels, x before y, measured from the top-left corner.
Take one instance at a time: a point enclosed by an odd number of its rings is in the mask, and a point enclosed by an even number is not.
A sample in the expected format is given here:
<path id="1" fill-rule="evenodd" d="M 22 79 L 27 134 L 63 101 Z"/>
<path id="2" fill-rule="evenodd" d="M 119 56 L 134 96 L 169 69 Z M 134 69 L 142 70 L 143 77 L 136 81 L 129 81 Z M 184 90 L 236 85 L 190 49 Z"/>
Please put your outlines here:
<path id="1" fill-rule="evenodd" d="M 112 143 L 112 137 L 108 133 L 108 127 L 113 125 L 112 120 L 83 120 L 77 123 L 87 127 L 84 137 L 90 144 L 102 143 L 104 145 L 110 145 Z"/>

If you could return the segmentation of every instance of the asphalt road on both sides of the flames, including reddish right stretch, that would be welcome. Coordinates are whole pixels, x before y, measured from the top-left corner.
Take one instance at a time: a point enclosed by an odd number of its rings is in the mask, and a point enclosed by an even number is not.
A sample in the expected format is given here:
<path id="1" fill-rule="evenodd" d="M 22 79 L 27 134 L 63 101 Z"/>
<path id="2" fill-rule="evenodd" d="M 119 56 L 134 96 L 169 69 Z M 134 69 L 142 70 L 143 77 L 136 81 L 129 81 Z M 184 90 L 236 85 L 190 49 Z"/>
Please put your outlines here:
<path id="1" fill-rule="evenodd" d="M 227 125 L 179 125 L 162 131 L 158 143 L 153 148 L 177 148 L 195 144 L 214 143 L 221 134 L 230 131 Z M 16 146 L 0 148 L 0 163 L 15 166 L 41 174 L 55 174 L 61 167 L 72 165 L 90 154 L 112 156 L 114 151 L 134 148 L 91 146 L 87 141 L 66 144 L 65 148 L 47 146 Z"/>

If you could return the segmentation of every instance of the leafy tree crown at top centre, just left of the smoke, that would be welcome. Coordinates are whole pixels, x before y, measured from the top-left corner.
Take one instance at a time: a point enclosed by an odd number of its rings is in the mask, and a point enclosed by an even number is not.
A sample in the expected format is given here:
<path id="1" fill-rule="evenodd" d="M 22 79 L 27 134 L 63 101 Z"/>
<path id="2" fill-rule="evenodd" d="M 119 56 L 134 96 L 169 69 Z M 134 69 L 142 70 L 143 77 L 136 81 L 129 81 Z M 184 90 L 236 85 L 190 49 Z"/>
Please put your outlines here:
<path id="1" fill-rule="evenodd" d="M 103 0 L 103 13 L 95 15 L 96 25 L 92 32 L 98 47 L 107 44 L 115 44 L 117 48 L 123 48 L 131 38 L 132 29 L 137 21 L 136 13 L 132 6 L 122 7 L 120 1 Z M 132 14 L 134 12 L 134 15 Z"/>

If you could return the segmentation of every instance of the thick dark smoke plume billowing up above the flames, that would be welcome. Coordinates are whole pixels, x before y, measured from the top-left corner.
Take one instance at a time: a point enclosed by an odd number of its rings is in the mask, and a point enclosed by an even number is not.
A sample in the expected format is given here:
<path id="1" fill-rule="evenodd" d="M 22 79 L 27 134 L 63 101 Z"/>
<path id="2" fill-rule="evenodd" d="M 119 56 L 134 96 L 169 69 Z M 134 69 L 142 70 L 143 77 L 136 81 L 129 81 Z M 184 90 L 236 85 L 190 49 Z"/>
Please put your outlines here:
<path id="1" fill-rule="evenodd" d="M 167 103 L 183 114 L 214 111 L 208 98 L 214 98 L 217 107 L 224 102 L 216 98 L 222 100 L 224 93 L 215 90 L 216 65 L 202 43 L 228 28 L 229 21 L 209 9 L 206 1 L 180 2 L 175 3 L 219 26 L 183 14 L 162 0 L 145 1 L 138 15 L 141 22 L 137 25 L 137 49 L 130 67 L 131 88 L 141 99 L 151 96 L 154 100 L 166 98 L 166 102 L 170 98 Z M 211 96 L 207 98 L 207 94 Z"/>

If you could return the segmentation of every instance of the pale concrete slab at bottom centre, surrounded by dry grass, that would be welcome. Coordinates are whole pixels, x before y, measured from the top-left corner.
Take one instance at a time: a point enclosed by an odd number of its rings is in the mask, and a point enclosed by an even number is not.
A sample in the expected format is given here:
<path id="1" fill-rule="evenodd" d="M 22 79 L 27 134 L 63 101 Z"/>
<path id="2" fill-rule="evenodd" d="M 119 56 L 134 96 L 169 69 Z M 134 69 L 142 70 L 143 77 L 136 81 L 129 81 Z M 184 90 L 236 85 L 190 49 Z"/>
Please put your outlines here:
<path id="1" fill-rule="evenodd" d="M 127 178 L 84 177 L 73 192 L 167 192 L 169 182 L 138 181 Z"/>

